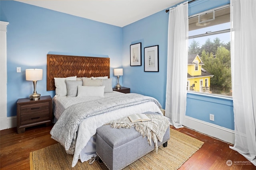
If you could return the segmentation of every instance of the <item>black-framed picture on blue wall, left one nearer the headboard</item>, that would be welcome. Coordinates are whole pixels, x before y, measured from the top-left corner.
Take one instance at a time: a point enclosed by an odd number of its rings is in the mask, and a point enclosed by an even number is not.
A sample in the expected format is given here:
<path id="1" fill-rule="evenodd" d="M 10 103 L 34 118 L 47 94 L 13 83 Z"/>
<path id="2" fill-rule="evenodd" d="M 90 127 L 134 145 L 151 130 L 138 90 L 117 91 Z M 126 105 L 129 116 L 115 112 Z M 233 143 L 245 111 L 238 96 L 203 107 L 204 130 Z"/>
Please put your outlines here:
<path id="1" fill-rule="evenodd" d="M 131 66 L 141 66 L 141 43 L 130 45 Z"/>

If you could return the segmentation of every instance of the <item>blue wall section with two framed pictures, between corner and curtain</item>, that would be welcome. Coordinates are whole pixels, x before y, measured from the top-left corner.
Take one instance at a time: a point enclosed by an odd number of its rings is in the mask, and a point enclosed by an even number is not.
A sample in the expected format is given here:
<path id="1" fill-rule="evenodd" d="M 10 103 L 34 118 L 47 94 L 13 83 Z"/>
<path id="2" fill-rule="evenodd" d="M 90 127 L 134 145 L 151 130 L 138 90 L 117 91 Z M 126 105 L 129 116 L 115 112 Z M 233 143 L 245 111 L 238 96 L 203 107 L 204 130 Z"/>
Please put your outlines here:
<path id="1" fill-rule="evenodd" d="M 165 11 L 123 27 L 123 84 L 156 98 L 165 108 L 168 14 Z M 130 66 L 130 45 L 142 43 L 142 66 Z M 144 72 L 144 47 L 159 45 L 159 72 Z"/>

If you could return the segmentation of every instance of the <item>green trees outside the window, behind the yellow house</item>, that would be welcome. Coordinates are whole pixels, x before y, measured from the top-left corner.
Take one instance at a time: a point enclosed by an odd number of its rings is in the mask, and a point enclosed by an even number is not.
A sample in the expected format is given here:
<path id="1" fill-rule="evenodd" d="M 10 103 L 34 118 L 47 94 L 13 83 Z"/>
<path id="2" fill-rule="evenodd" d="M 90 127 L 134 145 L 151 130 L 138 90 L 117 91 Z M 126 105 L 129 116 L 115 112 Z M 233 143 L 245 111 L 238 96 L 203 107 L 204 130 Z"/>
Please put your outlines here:
<path id="1" fill-rule="evenodd" d="M 188 54 L 199 54 L 204 63 L 202 67 L 214 75 L 210 82 L 212 86 L 231 87 L 230 42 L 224 44 L 219 38 L 212 42 L 208 38 L 199 47 L 199 42 L 193 40 Z"/>

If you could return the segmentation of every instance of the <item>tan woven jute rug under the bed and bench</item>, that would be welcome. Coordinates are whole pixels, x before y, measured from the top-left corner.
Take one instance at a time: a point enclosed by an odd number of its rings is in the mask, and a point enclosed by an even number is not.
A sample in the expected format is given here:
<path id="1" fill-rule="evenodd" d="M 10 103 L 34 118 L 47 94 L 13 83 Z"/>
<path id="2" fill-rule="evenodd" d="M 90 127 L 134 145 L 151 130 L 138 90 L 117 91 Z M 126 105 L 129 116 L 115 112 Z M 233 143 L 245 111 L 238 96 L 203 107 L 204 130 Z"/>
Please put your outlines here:
<path id="1" fill-rule="evenodd" d="M 177 170 L 204 143 L 176 130 L 170 129 L 168 146 L 155 150 L 136 160 L 124 170 Z M 95 161 L 78 163 L 71 167 L 73 155 L 66 154 L 64 147 L 57 143 L 49 147 L 30 152 L 30 170 L 107 170 L 104 163 Z"/>

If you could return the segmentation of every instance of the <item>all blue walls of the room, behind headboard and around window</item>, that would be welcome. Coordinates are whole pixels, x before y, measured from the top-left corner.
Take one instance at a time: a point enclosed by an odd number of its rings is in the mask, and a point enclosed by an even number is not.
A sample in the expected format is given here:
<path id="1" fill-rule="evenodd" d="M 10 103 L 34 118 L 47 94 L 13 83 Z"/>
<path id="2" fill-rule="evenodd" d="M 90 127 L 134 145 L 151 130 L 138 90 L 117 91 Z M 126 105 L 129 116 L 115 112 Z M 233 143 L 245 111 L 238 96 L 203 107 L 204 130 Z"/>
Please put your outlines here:
<path id="1" fill-rule="evenodd" d="M 189 4 L 189 15 L 217 6 L 229 0 L 197 0 Z M 37 92 L 46 91 L 46 55 L 81 55 L 110 58 L 110 76 L 113 86 L 116 77 L 113 68 L 123 67 L 120 84 L 131 92 L 152 96 L 165 108 L 168 16 L 165 10 L 125 27 L 116 27 L 97 21 L 24 4 L 0 1 L 0 20 L 7 26 L 7 116 L 16 115 L 16 102 L 33 91 L 32 82 L 25 80 L 26 68 L 42 68 L 43 80 L 38 81 Z M 130 45 L 142 43 L 142 66 L 130 66 Z M 159 45 L 159 72 L 144 72 L 144 47 Z M 22 72 L 16 73 L 16 67 Z M 201 109 L 195 109 L 200 108 Z M 234 129 L 231 99 L 188 94 L 186 115 Z M 209 113 L 215 121 L 209 121 Z"/>

